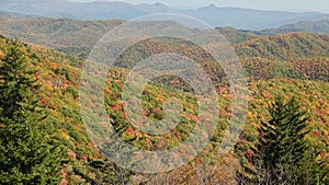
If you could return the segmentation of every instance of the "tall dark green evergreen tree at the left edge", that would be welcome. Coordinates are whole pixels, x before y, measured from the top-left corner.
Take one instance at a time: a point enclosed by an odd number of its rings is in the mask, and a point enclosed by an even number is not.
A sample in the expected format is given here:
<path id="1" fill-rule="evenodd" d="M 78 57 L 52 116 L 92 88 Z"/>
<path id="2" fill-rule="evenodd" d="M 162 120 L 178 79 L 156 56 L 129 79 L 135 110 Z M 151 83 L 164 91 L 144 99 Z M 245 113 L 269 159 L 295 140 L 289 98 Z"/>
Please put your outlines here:
<path id="1" fill-rule="evenodd" d="M 58 184 L 59 151 L 49 144 L 34 73 L 13 42 L 0 63 L 0 184 Z"/>

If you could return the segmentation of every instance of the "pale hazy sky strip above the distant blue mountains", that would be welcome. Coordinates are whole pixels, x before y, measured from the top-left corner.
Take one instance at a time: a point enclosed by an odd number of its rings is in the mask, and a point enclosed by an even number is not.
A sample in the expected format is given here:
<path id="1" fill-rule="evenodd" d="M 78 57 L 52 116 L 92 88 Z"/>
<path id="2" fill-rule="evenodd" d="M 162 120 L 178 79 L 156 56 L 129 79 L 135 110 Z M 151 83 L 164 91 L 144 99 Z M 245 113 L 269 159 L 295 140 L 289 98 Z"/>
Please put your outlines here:
<path id="1" fill-rule="evenodd" d="M 94 1 L 94 0 L 71 0 Z M 104 0 L 103 0 L 104 1 Z M 211 3 L 217 7 L 238 7 L 260 10 L 283 11 L 318 11 L 329 13 L 329 0 L 116 0 L 129 3 L 156 3 L 162 2 L 175 8 L 200 8 Z"/>

